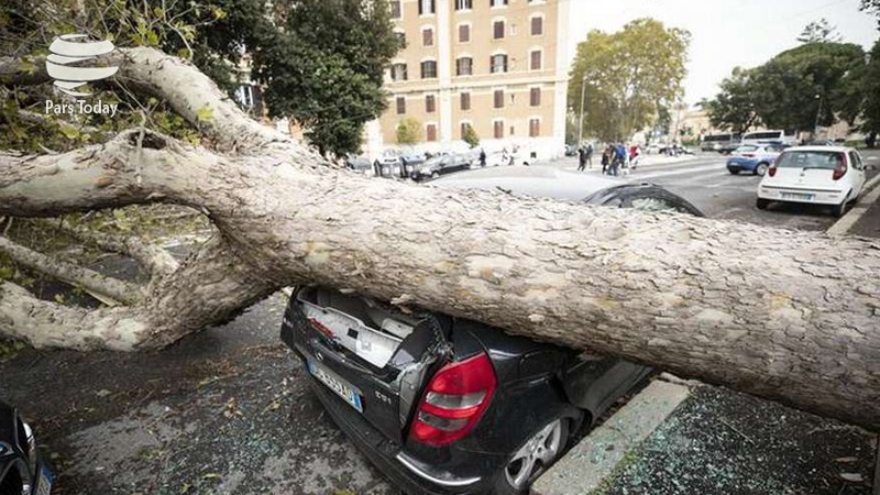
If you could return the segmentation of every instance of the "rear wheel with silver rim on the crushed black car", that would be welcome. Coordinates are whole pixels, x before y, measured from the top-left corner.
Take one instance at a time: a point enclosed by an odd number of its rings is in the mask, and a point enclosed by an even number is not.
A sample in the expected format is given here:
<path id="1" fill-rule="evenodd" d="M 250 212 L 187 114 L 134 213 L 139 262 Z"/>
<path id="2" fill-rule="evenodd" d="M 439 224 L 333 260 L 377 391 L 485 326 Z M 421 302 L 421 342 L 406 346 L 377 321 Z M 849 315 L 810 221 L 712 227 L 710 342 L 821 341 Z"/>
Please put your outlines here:
<path id="1" fill-rule="evenodd" d="M 522 495 L 562 455 L 569 442 L 571 419 L 558 417 L 532 433 L 496 476 L 493 495 Z"/>

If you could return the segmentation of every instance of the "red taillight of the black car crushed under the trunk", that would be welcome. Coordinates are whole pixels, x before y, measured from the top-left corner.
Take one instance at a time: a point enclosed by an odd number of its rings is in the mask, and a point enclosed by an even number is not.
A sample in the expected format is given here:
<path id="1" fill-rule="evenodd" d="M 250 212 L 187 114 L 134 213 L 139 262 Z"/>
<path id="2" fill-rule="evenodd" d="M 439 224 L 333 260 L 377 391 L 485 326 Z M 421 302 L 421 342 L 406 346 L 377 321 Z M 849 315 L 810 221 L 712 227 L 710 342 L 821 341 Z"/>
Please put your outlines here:
<path id="1" fill-rule="evenodd" d="M 492 402 L 496 383 L 485 353 L 447 364 L 428 383 L 409 437 L 436 447 L 464 437 Z"/>

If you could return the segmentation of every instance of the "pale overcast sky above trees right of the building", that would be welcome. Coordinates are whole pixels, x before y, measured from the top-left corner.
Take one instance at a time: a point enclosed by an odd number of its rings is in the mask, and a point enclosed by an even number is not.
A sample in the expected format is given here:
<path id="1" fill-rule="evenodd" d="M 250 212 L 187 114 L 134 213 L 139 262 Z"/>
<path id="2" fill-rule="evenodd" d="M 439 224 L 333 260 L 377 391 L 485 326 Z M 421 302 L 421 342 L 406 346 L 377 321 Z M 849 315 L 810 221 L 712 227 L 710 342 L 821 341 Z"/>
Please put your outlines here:
<path id="1" fill-rule="evenodd" d="M 563 0 L 565 1 L 565 0 Z M 877 19 L 859 12 L 859 0 L 568 0 L 568 55 L 597 29 L 620 30 L 639 18 L 654 18 L 691 32 L 684 101 L 696 103 L 718 92 L 718 82 L 736 67 L 755 67 L 798 46 L 796 37 L 822 18 L 844 42 L 866 50 L 880 36 Z"/>

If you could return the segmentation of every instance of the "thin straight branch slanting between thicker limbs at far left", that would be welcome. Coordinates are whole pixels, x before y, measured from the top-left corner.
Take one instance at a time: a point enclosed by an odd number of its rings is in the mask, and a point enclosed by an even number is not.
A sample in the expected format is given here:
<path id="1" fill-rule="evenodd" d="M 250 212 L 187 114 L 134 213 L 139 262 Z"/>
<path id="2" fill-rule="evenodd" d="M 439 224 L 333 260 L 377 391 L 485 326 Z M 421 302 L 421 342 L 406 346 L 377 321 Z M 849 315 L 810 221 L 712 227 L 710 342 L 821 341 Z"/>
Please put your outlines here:
<path id="1" fill-rule="evenodd" d="M 54 260 L 0 235 L 0 252 L 15 263 L 118 302 L 133 304 L 143 296 L 139 286 L 101 275 L 74 263 Z"/>

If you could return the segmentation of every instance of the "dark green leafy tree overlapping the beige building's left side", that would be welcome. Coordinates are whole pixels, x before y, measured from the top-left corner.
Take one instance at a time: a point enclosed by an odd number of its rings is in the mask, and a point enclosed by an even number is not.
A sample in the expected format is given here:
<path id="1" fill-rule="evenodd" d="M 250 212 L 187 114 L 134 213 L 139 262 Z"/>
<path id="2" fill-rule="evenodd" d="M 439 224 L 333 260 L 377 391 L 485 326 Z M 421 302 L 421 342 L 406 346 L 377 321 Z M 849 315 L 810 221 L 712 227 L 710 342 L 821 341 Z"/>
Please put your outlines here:
<path id="1" fill-rule="evenodd" d="M 356 151 L 387 107 L 383 74 L 399 42 L 386 0 L 296 0 L 254 54 L 270 116 L 290 117 L 321 152 Z"/>

